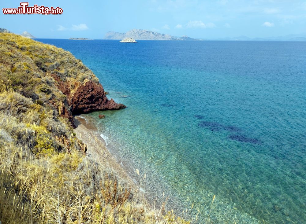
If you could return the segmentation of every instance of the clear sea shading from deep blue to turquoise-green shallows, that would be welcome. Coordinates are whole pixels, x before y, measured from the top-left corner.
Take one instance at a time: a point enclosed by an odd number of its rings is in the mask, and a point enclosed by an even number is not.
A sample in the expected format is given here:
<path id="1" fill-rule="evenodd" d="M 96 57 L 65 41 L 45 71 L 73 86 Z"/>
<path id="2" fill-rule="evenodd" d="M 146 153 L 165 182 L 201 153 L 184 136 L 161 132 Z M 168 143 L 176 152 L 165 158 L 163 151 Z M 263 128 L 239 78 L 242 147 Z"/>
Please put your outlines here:
<path id="1" fill-rule="evenodd" d="M 39 41 L 128 106 L 88 116 L 203 220 L 306 223 L 306 42 Z"/>

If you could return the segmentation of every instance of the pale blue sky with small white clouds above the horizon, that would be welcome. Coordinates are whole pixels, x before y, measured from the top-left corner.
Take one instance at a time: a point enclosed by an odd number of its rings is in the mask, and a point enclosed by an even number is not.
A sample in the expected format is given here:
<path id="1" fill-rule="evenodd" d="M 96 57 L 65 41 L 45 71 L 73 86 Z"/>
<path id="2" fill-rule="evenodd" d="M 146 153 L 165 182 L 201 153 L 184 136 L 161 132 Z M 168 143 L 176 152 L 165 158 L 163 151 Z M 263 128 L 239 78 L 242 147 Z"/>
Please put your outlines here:
<path id="1" fill-rule="evenodd" d="M 25 1 L 23 1 L 25 2 Z M 0 0 L 0 28 L 37 38 L 103 39 L 107 31 L 146 29 L 173 36 L 250 38 L 304 34 L 306 0 L 29 0 L 63 9 L 61 15 L 4 15 L 20 1 Z"/>

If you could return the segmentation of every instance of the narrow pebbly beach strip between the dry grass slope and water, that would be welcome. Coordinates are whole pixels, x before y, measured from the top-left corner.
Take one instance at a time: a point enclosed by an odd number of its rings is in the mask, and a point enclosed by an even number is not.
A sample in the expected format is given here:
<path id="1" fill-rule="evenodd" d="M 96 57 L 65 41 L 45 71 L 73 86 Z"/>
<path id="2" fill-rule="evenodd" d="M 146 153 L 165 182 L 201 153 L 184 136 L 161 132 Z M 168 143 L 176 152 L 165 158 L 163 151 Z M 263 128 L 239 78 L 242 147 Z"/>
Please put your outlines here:
<path id="1" fill-rule="evenodd" d="M 79 139 L 87 144 L 87 156 L 90 156 L 106 168 L 114 170 L 133 189 L 136 189 L 136 191 L 144 196 L 144 203 L 147 206 L 158 208 L 167 198 L 166 210 L 174 211 L 175 215 L 182 216 L 182 211 L 186 208 L 172 194 L 171 189 L 169 189 L 164 181 L 155 174 L 150 173 L 150 171 L 146 173 L 146 178 L 143 178 L 142 174 L 140 176 L 137 174 L 136 164 L 112 155 L 106 148 L 106 142 L 101 138 L 97 128 L 90 121 L 82 116 L 76 116 L 75 124 L 77 127 L 74 129 L 74 132 Z M 186 215 L 184 215 L 185 218 Z"/>

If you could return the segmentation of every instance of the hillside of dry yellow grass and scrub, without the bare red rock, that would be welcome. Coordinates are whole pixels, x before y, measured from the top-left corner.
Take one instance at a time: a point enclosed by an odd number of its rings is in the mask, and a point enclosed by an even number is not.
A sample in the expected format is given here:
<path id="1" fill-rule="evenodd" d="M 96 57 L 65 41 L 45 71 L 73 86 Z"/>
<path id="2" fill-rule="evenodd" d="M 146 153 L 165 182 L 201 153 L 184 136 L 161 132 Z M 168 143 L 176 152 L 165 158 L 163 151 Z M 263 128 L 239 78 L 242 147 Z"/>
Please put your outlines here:
<path id="1" fill-rule="evenodd" d="M 0 33 L 0 77 L 1 223 L 188 223 L 85 156 L 65 115 L 73 85 L 99 80 L 71 53 Z"/>

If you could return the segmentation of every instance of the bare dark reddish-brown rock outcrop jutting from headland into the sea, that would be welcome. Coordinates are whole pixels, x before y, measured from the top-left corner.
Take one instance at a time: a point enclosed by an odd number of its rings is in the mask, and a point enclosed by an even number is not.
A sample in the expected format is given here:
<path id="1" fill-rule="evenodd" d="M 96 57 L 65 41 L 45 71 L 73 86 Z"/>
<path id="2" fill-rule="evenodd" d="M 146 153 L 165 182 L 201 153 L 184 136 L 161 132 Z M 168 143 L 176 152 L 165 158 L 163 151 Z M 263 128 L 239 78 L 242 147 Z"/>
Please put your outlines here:
<path id="1" fill-rule="evenodd" d="M 67 96 L 67 104 L 70 107 L 70 110 L 67 110 L 63 105 L 59 113 L 61 116 L 68 118 L 73 127 L 75 127 L 72 119 L 74 114 L 100 110 L 119 110 L 126 107 L 123 104 L 116 103 L 112 98 L 109 100 L 105 96 L 103 86 L 100 83 L 91 80 L 85 83 L 71 83 L 70 81 L 62 81 L 55 74 L 51 76 L 55 79 L 58 89 Z"/>

